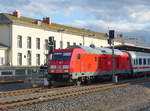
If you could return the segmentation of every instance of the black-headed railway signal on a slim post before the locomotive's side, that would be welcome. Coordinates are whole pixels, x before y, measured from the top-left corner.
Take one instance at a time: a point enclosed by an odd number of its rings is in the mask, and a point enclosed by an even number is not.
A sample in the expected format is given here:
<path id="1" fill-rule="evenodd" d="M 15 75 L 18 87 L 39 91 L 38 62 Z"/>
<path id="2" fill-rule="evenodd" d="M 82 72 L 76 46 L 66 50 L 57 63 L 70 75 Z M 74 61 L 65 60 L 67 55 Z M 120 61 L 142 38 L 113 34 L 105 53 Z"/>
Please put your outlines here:
<path id="1" fill-rule="evenodd" d="M 108 44 L 112 46 L 112 82 L 117 83 L 118 77 L 115 75 L 115 67 L 114 67 L 114 30 L 109 30 L 109 38 L 108 38 Z"/>

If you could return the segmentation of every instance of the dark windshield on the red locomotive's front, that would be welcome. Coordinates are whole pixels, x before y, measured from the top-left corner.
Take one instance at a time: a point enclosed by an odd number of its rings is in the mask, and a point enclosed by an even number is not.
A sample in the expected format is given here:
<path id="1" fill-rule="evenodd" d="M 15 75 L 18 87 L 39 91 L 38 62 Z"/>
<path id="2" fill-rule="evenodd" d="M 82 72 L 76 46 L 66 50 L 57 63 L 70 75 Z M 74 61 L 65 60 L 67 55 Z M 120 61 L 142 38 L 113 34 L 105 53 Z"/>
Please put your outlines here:
<path id="1" fill-rule="evenodd" d="M 59 52 L 54 53 L 52 60 L 70 60 L 71 52 Z"/>

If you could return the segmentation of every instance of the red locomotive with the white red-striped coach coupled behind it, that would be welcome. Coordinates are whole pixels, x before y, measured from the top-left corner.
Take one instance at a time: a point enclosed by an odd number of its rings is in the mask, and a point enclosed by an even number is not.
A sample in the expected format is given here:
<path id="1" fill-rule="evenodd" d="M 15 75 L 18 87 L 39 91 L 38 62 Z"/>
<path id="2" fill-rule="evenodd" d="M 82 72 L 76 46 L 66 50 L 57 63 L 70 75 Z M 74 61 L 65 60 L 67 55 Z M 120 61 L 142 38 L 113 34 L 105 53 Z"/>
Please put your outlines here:
<path id="1" fill-rule="evenodd" d="M 150 72 L 150 53 L 114 49 L 113 58 L 114 62 L 110 48 L 75 46 L 55 49 L 48 63 L 48 83 L 79 85 L 93 79 L 112 77 L 112 69 L 117 76 L 140 76 Z"/>

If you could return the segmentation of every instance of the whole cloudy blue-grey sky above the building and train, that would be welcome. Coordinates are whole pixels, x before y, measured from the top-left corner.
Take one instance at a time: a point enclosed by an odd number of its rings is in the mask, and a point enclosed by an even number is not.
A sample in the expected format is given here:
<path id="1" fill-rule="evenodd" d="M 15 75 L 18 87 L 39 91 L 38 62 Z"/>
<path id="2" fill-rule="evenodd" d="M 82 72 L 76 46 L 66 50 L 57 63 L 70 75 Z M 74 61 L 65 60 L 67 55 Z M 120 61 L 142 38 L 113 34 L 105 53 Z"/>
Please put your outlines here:
<path id="1" fill-rule="evenodd" d="M 0 0 L 0 12 L 19 10 L 23 16 L 106 33 L 115 29 L 150 46 L 149 0 Z M 141 39 L 142 38 L 142 39 Z"/>

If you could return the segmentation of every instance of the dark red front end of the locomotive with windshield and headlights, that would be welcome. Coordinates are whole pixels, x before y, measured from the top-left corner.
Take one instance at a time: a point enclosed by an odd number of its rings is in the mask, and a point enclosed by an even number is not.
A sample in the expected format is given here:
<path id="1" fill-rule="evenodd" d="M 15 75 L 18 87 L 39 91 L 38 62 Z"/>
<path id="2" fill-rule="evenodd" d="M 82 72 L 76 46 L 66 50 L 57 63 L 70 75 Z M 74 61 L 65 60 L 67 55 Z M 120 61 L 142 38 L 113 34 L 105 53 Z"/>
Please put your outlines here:
<path id="1" fill-rule="evenodd" d="M 70 79 L 70 60 L 73 50 L 57 49 L 48 64 L 49 81 L 68 81 Z"/>

